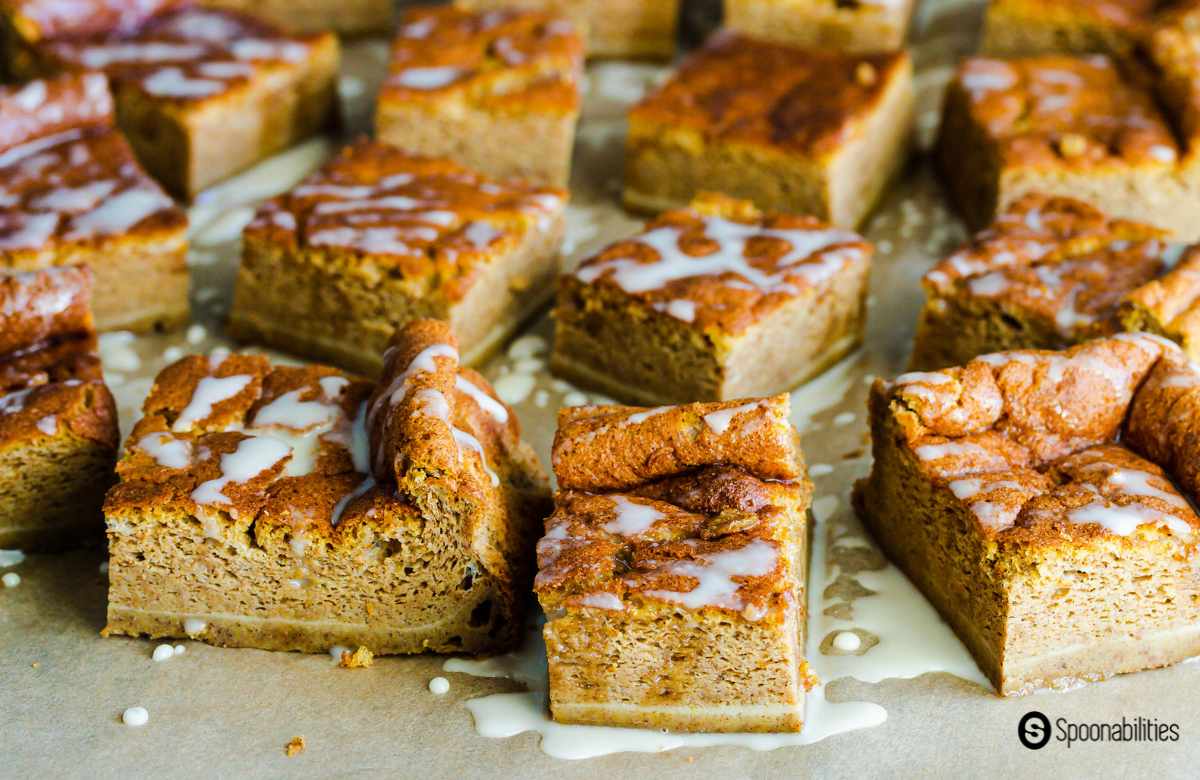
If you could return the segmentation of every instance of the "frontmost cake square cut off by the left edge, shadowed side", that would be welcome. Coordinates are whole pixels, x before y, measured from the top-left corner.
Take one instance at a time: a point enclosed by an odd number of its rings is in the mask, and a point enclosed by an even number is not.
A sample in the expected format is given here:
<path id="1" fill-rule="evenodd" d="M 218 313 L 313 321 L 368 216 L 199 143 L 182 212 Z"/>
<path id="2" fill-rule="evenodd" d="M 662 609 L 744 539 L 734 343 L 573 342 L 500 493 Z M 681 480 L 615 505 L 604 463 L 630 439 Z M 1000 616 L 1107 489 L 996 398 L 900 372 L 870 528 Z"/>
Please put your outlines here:
<path id="1" fill-rule="evenodd" d="M 0 271 L 0 547 L 98 542 L 116 404 L 82 266 Z"/>

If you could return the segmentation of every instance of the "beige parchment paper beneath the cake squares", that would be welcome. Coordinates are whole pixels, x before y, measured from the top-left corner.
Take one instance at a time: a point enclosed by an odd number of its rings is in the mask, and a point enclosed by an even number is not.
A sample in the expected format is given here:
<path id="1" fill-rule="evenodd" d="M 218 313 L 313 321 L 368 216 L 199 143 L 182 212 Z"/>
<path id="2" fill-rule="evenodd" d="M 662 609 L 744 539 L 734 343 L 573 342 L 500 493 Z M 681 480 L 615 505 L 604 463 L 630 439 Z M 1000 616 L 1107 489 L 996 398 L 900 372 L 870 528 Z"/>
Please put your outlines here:
<path id="1" fill-rule="evenodd" d="M 917 19 L 916 55 L 928 138 L 948 66 L 974 46 L 976 4 L 926 2 Z M 352 127 L 368 127 L 374 86 L 386 55 L 383 41 L 352 44 L 343 98 Z M 665 68 L 601 64 L 589 71 L 586 119 L 576 149 L 572 260 L 626 235 L 638 221 L 616 205 L 620 188 L 623 112 Z M 150 379 L 178 352 L 221 343 L 235 268 L 236 233 L 250 206 L 288 187 L 319 163 L 332 143 L 314 142 L 256 173 L 220 187 L 193 210 L 193 305 L 203 325 L 187 334 L 106 340 L 108 374 L 121 401 L 124 427 L 136 419 Z M 839 498 L 834 522 L 853 523 L 845 500 L 865 474 L 865 378 L 904 366 L 920 304 L 919 275 L 962 238 L 917 158 L 866 228 L 880 248 L 874 271 L 868 343 L 836 388 L 841 401 L 811 416 L 804 436 L 810 463 L 838 464 L 816 479 L 818 496 Z M 542 318 L 530 332 L 547 336 Z M 175 349 L 169 349 L 174 347 Z M 166 353 L 166 354 L 164 354 Z M 137 358 L 131 358 L 136 354 Z M 499 358 L 491 377 L 511 370 Z M 538 391 L 517 412 L 545 458 L 553 410 L 570 389 L 544 373 Z M 811 395 L 811 394 L 810 394 Z M 844 396 L 844 397 L 842 397 Z M 544 401 L 539 406 L 538 401 Z M 823 406 L 823 404 L 818 404 Z M 852 416 L 851 416 L 852 415 Z M 956 678 L 930 674 L 866 685 L 841 680 L 832 698 L 881 703 L 888 720 L 876 728 L 805 748 L 754 752 L 738 748 L 619 754 L 581 762 L 550 758 L 534 734 L 496 740 L 475 733 L 463 701 L 514 690 L 503 679 L 442 671 L 440 658 L 379 659 L 370 670 L 336 668 L 324 655 L 230 650 L 184 642 L 187 650 L 155 662 L 152 642 L 102 640 L 106 576 L 103 551 L 30 556 L 5 569 L 22 583 L 0 588 L 0 776 L 1058 776 L 1151 774 L 1195 776 L 1200 766 L 1200 665 L 1127 676 L 1069 694 L 1001 700 Z M 883 637 L 887 641 L 887 637 Z M 450 678 L 445 696 L 427 689 Z M 121 724 L 126 707 L 142 706 L 150 722 Z M 1109 721 L 1121 716 L 1180 724 L 1174 744 L 1105 744 L 1040 751 L 1016 738 L 1030 710 L 1051 720 Z M 307 749 L 284 756 L 284 744 L 304 736 Z"/>

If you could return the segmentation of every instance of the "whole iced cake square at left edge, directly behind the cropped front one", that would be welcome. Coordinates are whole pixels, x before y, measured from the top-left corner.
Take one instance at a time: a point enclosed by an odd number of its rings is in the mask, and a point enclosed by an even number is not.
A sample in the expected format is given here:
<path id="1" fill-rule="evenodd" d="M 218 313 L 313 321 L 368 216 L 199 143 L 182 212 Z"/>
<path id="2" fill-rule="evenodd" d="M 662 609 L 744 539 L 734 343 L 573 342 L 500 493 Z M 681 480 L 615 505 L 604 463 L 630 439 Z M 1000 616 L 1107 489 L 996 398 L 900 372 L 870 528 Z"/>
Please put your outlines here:
<path id="1" fill-rule="evenodd" d="M 98 73 L 0 89 L 0 269 L 74 264 L 101 330 L 187 320 L 187 216 L 113 127 Z"/>

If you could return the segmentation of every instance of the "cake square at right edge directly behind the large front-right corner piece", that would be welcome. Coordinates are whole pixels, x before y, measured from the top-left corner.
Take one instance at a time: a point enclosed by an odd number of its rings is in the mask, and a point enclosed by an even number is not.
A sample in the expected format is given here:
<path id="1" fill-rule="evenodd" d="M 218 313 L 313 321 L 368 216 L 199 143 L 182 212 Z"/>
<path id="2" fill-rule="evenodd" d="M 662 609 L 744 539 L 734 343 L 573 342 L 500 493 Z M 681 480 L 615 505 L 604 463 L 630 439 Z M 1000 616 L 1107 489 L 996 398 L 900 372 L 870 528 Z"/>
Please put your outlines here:
<path id="1" fill-rule="evenodd" d="M 1200 358 L 1200 251 L 1070 198 L 1028 194 L 929 271 L 912 367 L 1146 330 Z"/>

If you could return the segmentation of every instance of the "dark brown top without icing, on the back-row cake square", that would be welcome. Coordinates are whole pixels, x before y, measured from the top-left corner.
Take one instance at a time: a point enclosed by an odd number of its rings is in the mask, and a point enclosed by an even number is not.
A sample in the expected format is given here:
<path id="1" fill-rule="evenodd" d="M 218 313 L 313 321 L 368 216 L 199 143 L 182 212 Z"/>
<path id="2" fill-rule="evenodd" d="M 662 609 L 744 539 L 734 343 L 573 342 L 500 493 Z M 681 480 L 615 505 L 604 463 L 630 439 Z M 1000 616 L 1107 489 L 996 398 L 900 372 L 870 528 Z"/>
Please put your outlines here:
<path id="1" fill-rule="evenodd" d="M 908 67 L 902 52 L 803 50 L 719 34 L 630 121 L 823 157 L 856 137 Z"/>

